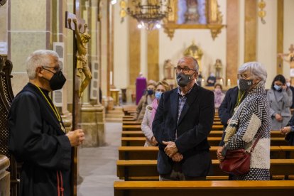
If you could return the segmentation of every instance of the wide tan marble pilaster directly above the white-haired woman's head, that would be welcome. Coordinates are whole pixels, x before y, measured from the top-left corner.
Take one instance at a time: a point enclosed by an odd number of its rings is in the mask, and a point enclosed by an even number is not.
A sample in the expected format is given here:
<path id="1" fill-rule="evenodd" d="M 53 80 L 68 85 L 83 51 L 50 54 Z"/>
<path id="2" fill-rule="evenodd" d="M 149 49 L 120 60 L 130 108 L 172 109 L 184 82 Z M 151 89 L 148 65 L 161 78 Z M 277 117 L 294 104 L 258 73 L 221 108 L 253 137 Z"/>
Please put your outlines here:
<path id="1" fill-rule="evenodd" d="M 256 60 L 257 1 L 245 1 L 245 57 L 244 62 Z"/>

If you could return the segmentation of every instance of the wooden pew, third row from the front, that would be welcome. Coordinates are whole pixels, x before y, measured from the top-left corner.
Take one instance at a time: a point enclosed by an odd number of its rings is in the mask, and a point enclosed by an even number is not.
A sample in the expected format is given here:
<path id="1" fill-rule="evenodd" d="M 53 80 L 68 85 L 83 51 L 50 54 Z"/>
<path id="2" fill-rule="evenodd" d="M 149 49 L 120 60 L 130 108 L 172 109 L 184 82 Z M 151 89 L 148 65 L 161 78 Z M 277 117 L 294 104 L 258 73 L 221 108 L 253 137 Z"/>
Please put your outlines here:
<path id="1" fill-rule="evenodd" d="M 217 159 L 217 148 L 218 146 L 212 146 L 209 149 L 212 159 Z M 119 147 L 119 160 L 156 160 L 157 156 L 157 146 Z M 294 146 L 271 146 L 271 158 L 294 158 Z"/>

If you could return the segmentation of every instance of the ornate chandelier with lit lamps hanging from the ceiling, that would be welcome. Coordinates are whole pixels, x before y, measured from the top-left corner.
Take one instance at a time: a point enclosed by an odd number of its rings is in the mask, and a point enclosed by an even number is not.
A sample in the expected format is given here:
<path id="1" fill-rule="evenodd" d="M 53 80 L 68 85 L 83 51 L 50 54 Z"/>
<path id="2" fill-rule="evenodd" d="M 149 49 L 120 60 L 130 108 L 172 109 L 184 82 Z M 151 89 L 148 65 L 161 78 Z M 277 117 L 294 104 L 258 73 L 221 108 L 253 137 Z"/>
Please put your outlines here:
<path id="1" fill-rule="evenodd" d="M 127 13 L 138 21 L 138 28 L 147 30 L 160 28 L 163 18 L 171 12 L 170 0 L 132 0 L 128 8 L 122 0 L 120 5 L 122 21 Z"/>

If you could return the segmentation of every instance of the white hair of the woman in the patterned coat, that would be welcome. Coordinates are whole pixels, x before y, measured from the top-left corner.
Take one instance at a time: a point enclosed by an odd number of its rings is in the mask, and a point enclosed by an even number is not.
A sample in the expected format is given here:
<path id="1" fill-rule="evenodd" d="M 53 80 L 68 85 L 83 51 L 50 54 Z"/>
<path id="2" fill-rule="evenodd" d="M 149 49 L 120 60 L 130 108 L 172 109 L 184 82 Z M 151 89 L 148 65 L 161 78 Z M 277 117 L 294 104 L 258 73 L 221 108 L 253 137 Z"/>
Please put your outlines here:
<path id="1" fill-rule="evenodd" d="M 239 74 L 244 73 L 246 71 L 249 71 L 251 74 L 251 77 L 257 80 L 261 80 L 258 82 L 258 85 L 256 87 L 264 87 L 266 84 L 266 77 L 268 77 L 268 74 L 266 72 L 266 68 L 261 65 L 260 62 L 246 62 L 241 67 L 239 67 Z"/>

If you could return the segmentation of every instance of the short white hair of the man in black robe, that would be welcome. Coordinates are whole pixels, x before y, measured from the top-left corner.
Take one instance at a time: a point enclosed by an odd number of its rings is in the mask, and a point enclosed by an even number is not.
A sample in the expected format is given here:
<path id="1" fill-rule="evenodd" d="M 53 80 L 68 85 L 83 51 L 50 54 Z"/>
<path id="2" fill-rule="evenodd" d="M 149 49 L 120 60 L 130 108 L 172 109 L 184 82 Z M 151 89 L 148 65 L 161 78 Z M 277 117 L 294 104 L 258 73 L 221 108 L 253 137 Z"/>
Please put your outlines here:
<path id="1" fill-rule="evenodd" d="M 36 50 L 28 56 L 26 59 L 26 72 L 30 80 L 36 78 L 37 67 L 49 66 L 50 62 L 52 62 L 50 57 L 53 57 L 56 61 L 59 58 L 58 53 L 53 50 Z"/>

